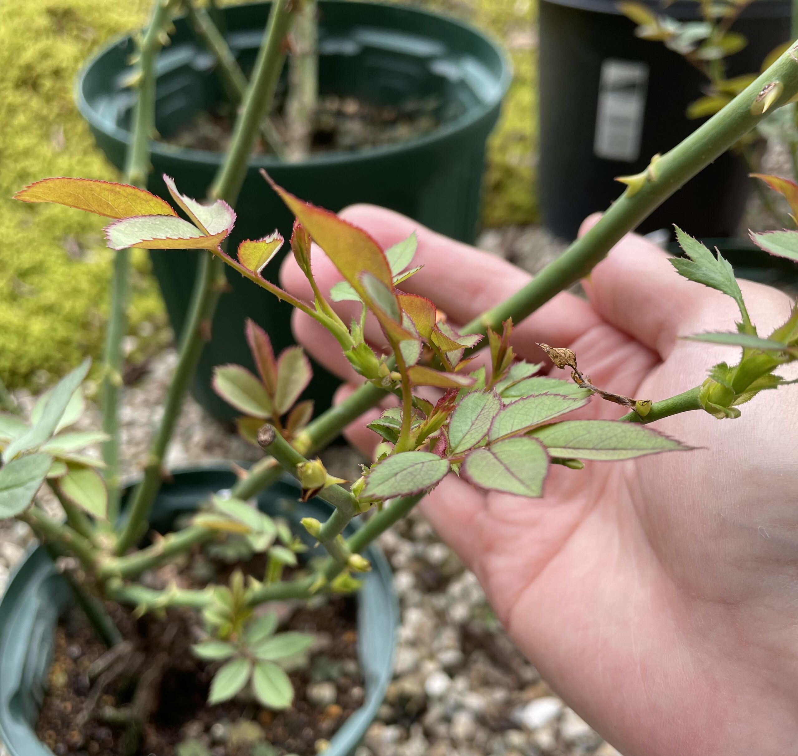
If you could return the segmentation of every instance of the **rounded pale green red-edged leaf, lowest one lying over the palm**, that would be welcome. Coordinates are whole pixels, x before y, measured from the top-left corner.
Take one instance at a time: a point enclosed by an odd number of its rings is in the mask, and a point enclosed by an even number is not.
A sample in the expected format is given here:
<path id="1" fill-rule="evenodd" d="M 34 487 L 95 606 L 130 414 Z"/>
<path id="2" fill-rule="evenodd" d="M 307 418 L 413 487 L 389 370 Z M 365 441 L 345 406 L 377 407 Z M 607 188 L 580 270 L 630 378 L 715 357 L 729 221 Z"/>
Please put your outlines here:
<path id="1" fill-rule="evenodd" d="M 460 474 L 484 490 L 539 497 L 548 470 L 548 456 L 535 439 L 519 436 L 475 449 L 464 459 Z"/>

